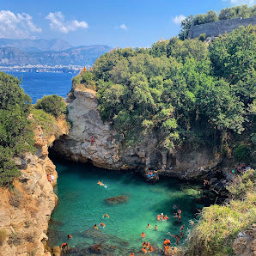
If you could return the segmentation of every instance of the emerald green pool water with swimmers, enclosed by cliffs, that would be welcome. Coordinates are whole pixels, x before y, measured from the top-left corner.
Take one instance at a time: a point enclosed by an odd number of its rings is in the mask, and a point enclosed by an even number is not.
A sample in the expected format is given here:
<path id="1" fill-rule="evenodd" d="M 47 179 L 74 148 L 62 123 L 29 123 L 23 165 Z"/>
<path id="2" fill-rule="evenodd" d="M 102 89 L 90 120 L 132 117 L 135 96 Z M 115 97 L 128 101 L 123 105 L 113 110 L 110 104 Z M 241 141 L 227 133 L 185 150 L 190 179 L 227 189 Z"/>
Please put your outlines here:
<path id="1" fill-rule="evenodd" d="M 137 174 L 119 173 L 91 165 L 54 162 L 58 171 L 58 186 L 54 191 L 59 202 L 49 223 L 49 246 L 60 246 L 67 241 L 67 235 L 73 236 L 68 241 L 70 247 L 89 247 L 99 243 L 116 247 L 111 255 L 130 255 L 138 252 L 143 241 L 149 241 L 155 247 L 162 247 L 164 238 L 169 238 L 173 245 L 176 240 L 167 235 L 180 234 L 180 226 L 185 224 L 185 238 L 190 228 L 189 220 L 196 217 L 202 205 L 195 202 L 200 196 L 199 186 L 187 185 L 180 180 L 161 180 L 155 185 L 144 182 Z M 101 180 L 105 186 L 99 186 Z M 109 205 L 104 199 L 119 195 L 129 197 L 123 204 Z M 173 217 L 182 210 L 182 220 Z M 169 220 L 159 222 L 157 214 L 167 214 Z M 110 218 L 102 218 L 107 213 Z M 106 224 L 105 229 L 94 232 L 95 223 Z M 158 230 L 146 229 L 147 224 Z M 145 232 L 146 238 L 141 238 Z M 181 244 L 185 239 L 181 240 Z M 113 248 L 112 248 L 113 249 Z M 110 249 L 111 250 L 111 249 Z"/>

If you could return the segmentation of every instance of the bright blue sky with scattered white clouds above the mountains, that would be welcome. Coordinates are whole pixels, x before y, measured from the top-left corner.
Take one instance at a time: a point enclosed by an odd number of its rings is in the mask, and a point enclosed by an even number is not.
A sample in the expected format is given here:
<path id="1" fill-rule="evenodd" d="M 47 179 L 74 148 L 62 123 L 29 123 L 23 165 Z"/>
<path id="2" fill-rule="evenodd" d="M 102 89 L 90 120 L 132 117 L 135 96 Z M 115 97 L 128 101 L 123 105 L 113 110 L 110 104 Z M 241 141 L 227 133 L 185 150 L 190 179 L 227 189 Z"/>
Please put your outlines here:
<path id="1" fill-rule="evenodd" d="M 146 47 L 180 31 L 187 15 L 256 0 L 1 0 L 0 38 L 63 39 L 73 46 Z"/>

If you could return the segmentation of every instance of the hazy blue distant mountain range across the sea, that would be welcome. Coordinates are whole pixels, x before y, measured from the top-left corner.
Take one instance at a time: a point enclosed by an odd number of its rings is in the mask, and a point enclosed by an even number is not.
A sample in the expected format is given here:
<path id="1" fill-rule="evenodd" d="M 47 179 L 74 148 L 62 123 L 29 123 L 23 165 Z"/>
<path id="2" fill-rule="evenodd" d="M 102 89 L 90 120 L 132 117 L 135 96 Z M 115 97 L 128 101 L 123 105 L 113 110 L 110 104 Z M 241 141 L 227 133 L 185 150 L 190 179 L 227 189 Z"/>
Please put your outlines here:
<path id="1" fill-rule="evenodd" d="M 0 39 L 0 66 L 92 65 L 111 47 L 104 45 L 70 46 L 64 40 Z"/>

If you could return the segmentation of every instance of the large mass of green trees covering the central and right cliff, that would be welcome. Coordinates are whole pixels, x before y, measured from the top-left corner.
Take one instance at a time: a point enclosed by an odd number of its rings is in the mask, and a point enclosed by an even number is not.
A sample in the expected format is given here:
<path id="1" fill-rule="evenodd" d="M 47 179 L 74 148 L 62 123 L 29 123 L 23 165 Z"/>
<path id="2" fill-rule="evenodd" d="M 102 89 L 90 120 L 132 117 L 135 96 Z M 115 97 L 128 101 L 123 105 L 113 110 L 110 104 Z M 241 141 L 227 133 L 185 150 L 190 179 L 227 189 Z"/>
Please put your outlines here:
<path id="1" fill-rule="evenodd" d="M 149 49 L 117 49 L 74 82 L 97 89 L 102 119 L 127 142 L 154 132 L 160 149 L 208 143 L 227 154 L 230 137 L 245 130 L 251 137 L 242 145 L 255 143 L 255 42 L 249 26 L 210 46 L 174 37 Z"/>

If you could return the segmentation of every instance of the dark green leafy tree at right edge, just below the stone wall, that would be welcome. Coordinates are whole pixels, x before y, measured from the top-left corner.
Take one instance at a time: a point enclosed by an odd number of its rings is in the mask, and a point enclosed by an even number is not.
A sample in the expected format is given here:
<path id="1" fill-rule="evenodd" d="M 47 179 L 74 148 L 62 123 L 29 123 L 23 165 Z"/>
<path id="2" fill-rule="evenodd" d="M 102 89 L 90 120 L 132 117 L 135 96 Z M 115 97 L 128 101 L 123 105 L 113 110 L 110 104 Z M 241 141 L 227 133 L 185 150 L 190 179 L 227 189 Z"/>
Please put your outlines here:
<path id="1" fill-rule="evenodd" d="M 241 27 L 210 44 L 215 74 L 224 77 L 245 104 L 255 96 L 256 26 Z"/>

